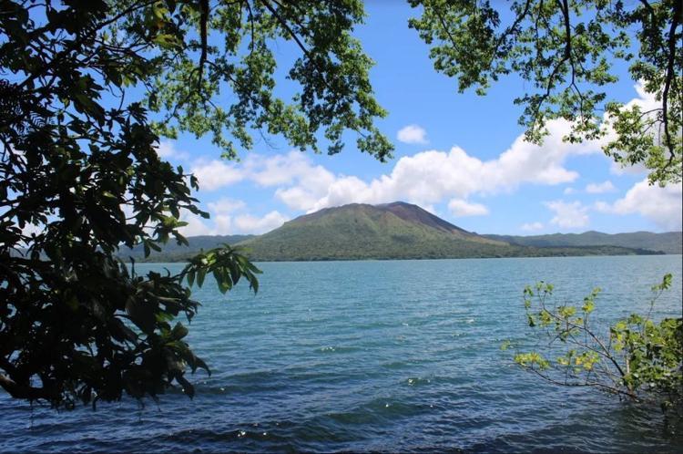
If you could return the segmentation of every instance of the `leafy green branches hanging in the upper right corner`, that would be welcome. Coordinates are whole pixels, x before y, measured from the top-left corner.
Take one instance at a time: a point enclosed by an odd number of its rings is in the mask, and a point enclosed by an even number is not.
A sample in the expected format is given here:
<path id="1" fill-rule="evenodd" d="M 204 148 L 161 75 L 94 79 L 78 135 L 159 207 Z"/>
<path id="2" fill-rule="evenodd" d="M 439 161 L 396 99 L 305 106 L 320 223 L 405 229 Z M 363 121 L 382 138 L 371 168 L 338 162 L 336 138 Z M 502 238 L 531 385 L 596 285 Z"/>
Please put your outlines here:
<path id="1" fill-rule="evenodd" d="M 422 7 L 410 26 L 431 46 L 434 68 L 459 91 L 484 95 L 499 77 L 529 82 L 515 99 L 520 124 L 539 143 L 549 119 L 566 119 L 566 140 L 607 137 L 603 150 L 623 165 L 642 163 L 649 181 L 681 181 L 683 6 L 680 0 L 409 0 Z M 507 14 L 509 10 L 511 15 Z M 635 37 L 635 40 L 632 39 Z M 608 98 L 612 72 L 629 65 L 655 98 L 644 109 Z"/>

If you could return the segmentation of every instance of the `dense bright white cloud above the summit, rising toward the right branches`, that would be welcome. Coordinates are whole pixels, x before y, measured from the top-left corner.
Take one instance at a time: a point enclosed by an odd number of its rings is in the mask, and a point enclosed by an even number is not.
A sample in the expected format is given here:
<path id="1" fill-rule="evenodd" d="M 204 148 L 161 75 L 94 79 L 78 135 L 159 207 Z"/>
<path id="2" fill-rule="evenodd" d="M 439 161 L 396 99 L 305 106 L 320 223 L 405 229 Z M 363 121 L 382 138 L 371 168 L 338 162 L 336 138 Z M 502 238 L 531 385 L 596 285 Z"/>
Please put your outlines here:
<path id="1" fill-rule="evenodd" d="M 553 185 L 575 181 L 578 173 L 564 167 L 566 159 L 572 155 L 599 153 L 599 144 L 563 141 L 562 137 L 569 131 L 565 120 L 550 121 L 548 128 L 551 135 L 542 146 L 526 142 L 520 136 L 494 160 L 479 160 L 459 147 L 449 152 L 426 150 L 401 158 L 391 173 L 369 182 L 354 176 L 338 176 L 314 203 L 311 201 L 317 191 L 307 191 L 311 197 L 304 199 L 301 191 L 288 188 L 287 192 L 280 192 L 280 197 L 290 196 L 299 201 L 299 209 L 314 212 L 352 202 L 402 200 L 427 205 L 444 199 L 466 200 L 473 194 L 514 191 L 525 183 Z"/>

